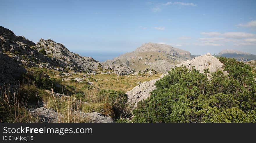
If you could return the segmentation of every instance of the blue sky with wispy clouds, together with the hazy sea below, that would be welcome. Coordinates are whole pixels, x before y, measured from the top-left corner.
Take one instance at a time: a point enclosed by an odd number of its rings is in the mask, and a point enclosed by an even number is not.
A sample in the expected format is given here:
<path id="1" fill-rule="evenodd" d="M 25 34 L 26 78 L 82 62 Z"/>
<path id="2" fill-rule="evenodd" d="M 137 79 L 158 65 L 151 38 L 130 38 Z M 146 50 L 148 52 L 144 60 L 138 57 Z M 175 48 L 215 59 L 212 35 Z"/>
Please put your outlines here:
<path id="1" fill-rule="evenodd" d="M 256 1 L 0 0 L 0 26 L 52 39 L 96 60 L 165 43 L 193 55 L 236 49 L 256 54 Z"/>

